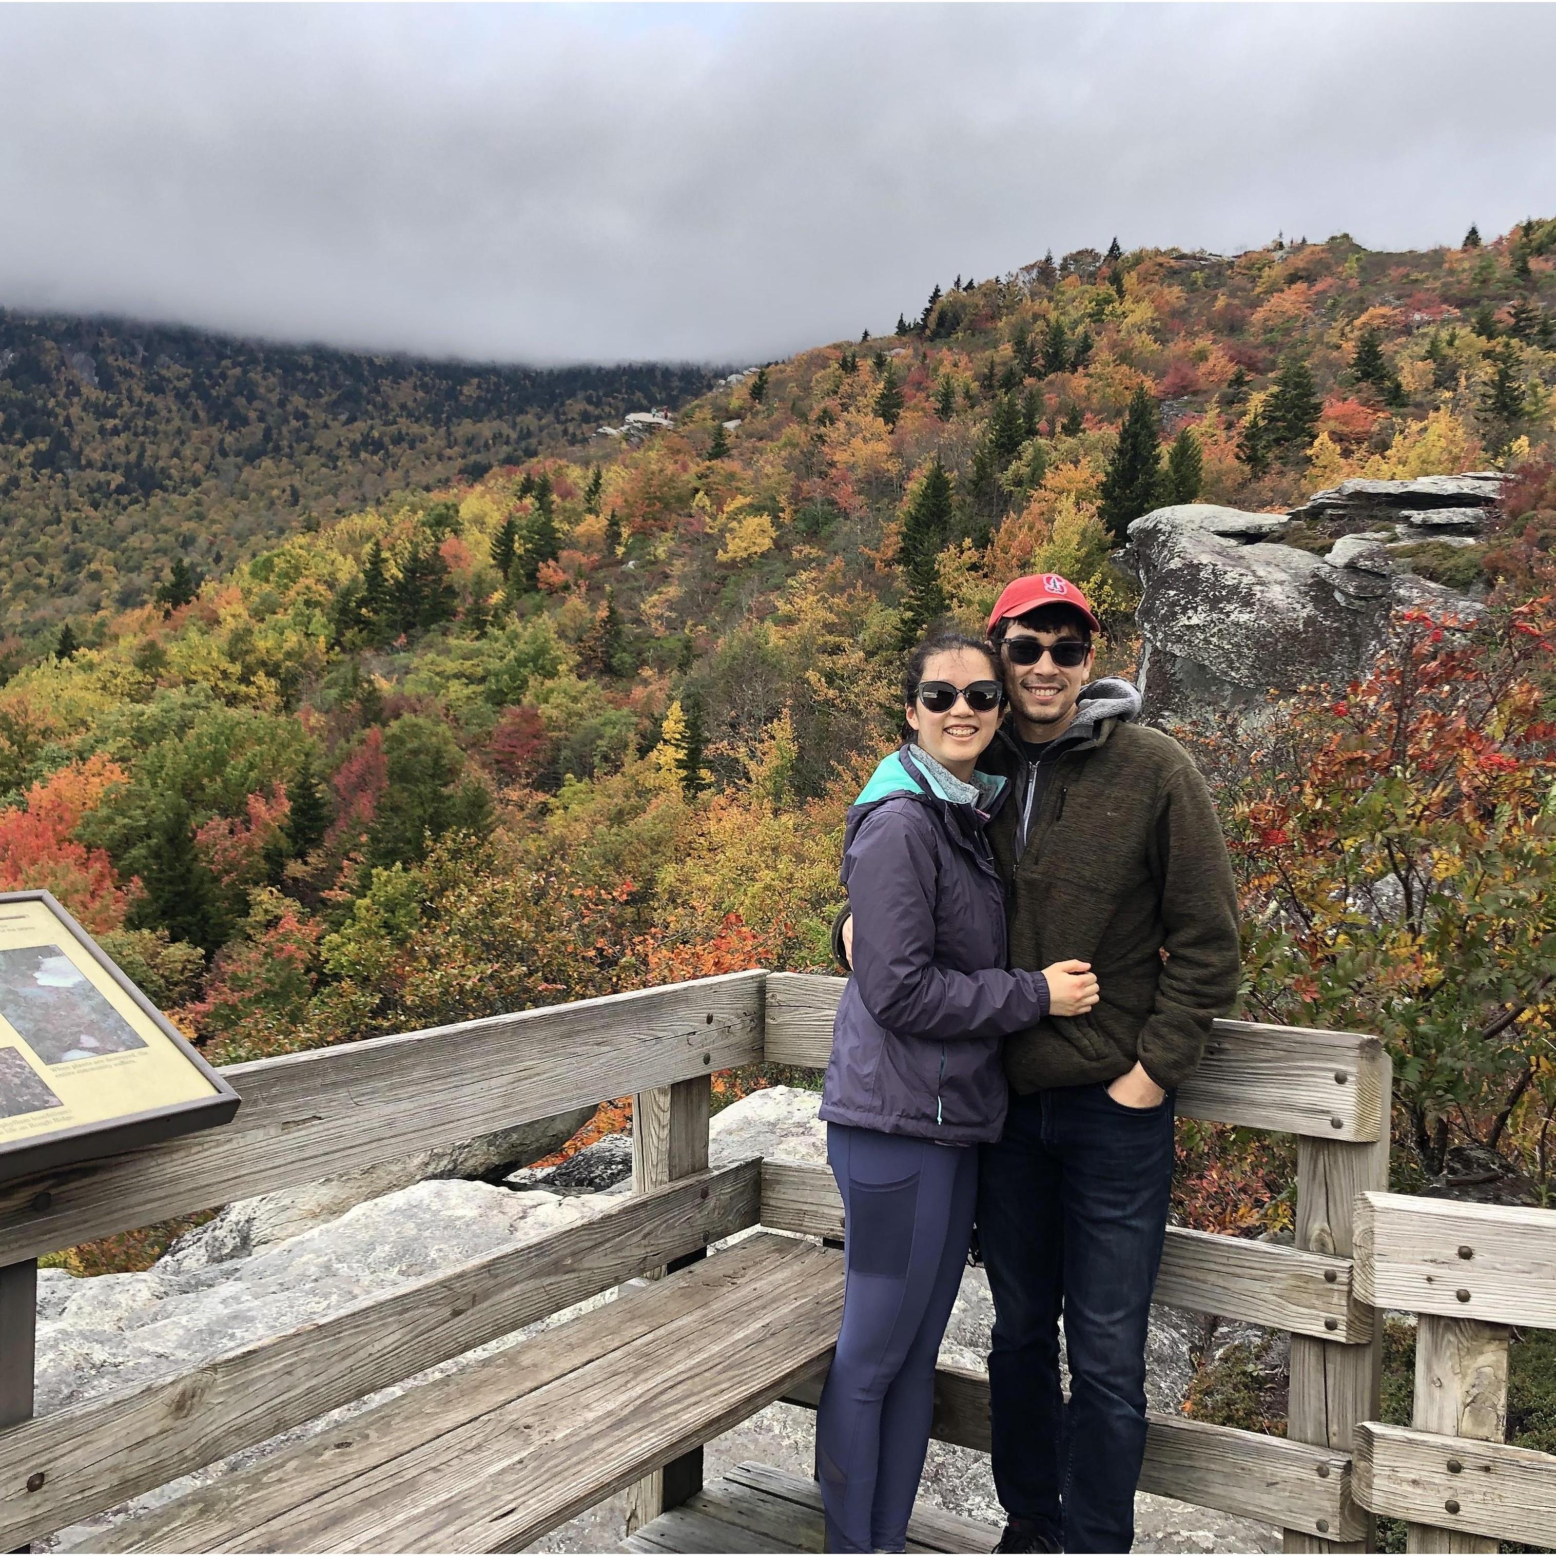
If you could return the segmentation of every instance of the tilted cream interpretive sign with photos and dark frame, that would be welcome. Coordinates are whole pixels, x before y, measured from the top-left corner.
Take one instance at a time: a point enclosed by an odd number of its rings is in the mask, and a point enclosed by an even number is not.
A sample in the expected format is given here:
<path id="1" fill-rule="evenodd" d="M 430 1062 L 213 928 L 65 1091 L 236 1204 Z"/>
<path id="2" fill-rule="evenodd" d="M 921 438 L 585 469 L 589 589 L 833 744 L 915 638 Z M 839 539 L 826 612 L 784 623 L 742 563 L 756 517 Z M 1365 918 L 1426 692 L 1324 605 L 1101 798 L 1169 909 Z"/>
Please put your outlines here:
<path id="1" fill-rule="evenodd" d="M 237 1092 L 47 892 L 0 893 L 0 1179 L 237 1109 Z"/>

